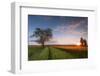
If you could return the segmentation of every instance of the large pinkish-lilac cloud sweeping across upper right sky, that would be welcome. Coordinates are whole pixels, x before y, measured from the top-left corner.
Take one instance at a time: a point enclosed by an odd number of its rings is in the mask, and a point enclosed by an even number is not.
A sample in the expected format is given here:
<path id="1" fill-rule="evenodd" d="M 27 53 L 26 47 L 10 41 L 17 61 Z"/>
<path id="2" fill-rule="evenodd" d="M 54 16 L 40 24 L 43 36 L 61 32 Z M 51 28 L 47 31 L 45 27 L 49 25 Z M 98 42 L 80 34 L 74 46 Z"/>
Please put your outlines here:
<path id="1" fill-rule="evenodd" d="M 64 34 L 72 34 L 72 35 L 81 35 L 82 36 L 87 33 L 87 31 L 85 31 L 83 29 L 84 23 L 85 23 L 85 21 L 82 20 L 80 22 L 72 22 L 70 25 L 62 24 L 62 25 L 57 26 L 53 30 L 55 32 L 60 32 L 60 33 L 64 33 Z M 77 30 L 79 27 L 81 27 L 80 31 Z"/>

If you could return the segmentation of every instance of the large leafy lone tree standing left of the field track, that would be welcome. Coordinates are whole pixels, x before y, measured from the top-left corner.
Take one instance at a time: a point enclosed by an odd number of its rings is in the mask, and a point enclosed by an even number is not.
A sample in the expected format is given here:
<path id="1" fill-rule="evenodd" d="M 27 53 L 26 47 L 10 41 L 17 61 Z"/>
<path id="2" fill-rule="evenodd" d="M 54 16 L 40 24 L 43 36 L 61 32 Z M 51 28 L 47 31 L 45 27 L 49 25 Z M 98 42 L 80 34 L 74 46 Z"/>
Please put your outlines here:
<path id="1" fill-rule="evenodd" d="M 35 40 L 35 42 L 41 44 L 44 47 L 45 42 L 49 41 L 52 38 L 52 30 L 50 28 L 36 28 L 36 30 L 33 32 L 32 37 L 36 37 L 37 40 Z"/>

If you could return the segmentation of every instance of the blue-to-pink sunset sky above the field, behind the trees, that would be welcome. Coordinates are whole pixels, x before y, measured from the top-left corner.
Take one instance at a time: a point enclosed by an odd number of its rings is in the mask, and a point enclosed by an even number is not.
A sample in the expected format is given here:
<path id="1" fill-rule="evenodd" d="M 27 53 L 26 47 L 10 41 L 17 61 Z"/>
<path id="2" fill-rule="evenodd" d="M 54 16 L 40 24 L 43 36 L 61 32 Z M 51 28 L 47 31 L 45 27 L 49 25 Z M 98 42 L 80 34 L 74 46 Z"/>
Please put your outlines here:
<path id="1" fill-rule="evenodd" d="M 73 45 L 80 38 L 88 40 L 88 17 L 28 15 L 28 44 L 38 45 L 31 37 L 36 28 L 52 29 L 53 37 L 48 45 Z"/>

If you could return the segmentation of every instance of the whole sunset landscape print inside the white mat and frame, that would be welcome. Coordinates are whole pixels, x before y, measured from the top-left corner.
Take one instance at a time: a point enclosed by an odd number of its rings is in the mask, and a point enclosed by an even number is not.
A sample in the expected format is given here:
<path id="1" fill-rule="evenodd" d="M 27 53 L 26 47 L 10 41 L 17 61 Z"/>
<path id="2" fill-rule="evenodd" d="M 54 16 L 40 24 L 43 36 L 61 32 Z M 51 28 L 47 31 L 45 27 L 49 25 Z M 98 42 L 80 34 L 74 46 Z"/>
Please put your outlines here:
<path id="1" fill-rule="evenodd" d="M 28 15 L 28 61 L 88 58 L 88 17 Z"/>

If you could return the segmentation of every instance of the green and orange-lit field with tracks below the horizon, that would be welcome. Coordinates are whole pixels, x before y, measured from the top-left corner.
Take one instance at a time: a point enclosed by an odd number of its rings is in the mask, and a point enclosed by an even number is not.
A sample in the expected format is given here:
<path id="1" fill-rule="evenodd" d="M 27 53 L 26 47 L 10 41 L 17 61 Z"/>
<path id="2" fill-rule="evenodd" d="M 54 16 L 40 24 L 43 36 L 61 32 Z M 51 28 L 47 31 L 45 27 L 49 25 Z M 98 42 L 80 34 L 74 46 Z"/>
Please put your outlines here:
<path id="1" fill-rule="evenodd" d="M 28 60 L 55 60 L 88 58 L 87 47 L 76 45 L 47 45 L 45 47 L 29 45 Z"/>

